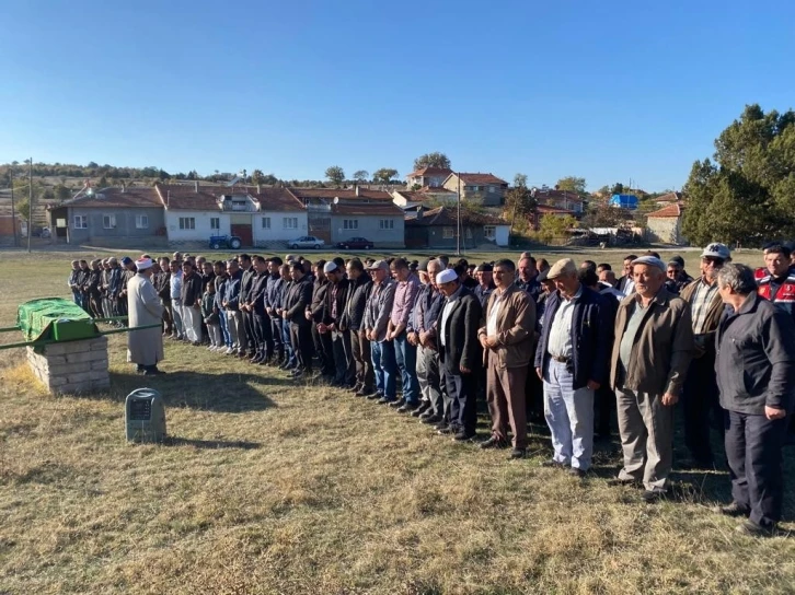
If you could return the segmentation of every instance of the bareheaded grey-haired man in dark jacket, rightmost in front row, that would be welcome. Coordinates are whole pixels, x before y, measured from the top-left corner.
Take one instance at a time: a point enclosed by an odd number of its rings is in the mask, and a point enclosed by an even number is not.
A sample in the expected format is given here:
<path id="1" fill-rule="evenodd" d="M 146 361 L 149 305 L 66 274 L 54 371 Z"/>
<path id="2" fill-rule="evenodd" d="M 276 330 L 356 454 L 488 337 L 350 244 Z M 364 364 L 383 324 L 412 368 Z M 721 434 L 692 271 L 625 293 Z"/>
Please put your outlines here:
<path id="1" fill-rule="evenodd" d="M 784 495 L 782 446 L 795 405 L 795 323 L 757 294 L 753 271 L 727 264 L 718 291 L 730 306 L 717 329 L 715 372 L 726 409 L 733 502 L 721 512 L 748 516 L 737 529 L 775 532 Z M 738 364 L 741 362 L 741 365 Z"/>

